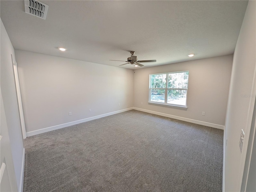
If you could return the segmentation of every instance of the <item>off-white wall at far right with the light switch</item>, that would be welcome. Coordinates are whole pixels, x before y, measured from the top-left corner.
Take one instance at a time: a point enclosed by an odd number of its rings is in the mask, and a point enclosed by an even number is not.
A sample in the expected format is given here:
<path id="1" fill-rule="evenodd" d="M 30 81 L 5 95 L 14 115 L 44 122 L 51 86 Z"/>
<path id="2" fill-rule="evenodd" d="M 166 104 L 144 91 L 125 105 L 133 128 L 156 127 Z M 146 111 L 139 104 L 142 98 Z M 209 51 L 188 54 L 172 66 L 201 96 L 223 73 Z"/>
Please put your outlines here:
<path id="1" fill-rule="evenodd" d="M 230 92 L 226 114 L 225 191 L 240 191 L 247 143 L 255 101 L 253 90 L 256 65 L 256 1 L 249 1 L 234 52 Z M 246 97 L 242 97 L 246 95 Z M 252 95 L 252 96 L 250 96 Z M 239 140 L 244 129 L 244 146 L 240 153 Z"/>

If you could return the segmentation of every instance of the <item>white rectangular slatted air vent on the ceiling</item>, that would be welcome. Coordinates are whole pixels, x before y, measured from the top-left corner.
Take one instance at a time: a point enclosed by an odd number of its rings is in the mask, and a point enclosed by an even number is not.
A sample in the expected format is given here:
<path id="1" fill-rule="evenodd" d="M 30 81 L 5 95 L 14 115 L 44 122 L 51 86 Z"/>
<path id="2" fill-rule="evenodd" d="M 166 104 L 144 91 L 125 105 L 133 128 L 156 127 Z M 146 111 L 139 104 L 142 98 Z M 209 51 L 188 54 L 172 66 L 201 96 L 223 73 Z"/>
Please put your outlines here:
<path id="1" fill-rule="evenodd" d="M 35 0 L 25 0 L 25 12 L 27 14 L 46 19 L 48 5 Z"/>

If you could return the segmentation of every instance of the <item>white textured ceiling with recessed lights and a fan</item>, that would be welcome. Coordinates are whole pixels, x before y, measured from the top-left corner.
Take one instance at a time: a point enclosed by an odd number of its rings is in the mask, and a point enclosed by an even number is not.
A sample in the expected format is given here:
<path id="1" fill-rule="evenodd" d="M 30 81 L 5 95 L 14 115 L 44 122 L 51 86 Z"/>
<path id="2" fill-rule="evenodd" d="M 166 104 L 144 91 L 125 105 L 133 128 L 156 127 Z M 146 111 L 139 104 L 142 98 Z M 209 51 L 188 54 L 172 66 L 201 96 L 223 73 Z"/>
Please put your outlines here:
<path id="1" fill-rule="evenodd" d="M 145 67 L 234 53 L 248 1 L 52 1 L 46 20 L 24 1 L 0 1 L 14 49 L 118 67 L 130 51 Z M 65 47 L 62 52 L 57 47 Z M 196 54 L 188 57 L 188 54 Z M 133 65 L 120 66 L 135 69 Z"/>

